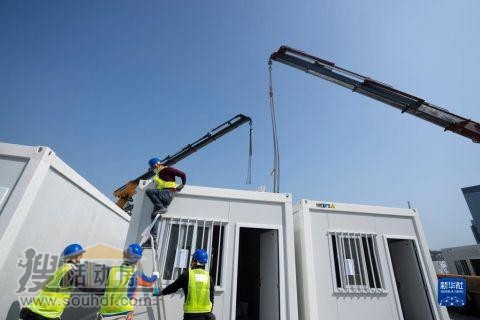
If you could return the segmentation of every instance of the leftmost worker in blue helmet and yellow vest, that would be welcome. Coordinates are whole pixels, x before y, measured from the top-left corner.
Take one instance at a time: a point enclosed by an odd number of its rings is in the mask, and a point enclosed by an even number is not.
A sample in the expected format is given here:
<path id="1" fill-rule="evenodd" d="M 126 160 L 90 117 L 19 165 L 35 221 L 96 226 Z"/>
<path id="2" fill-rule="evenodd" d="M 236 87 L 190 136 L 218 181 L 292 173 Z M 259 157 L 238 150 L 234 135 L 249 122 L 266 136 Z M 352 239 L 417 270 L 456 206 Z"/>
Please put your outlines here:
<path id="1" fill-rule="evenodd" d="M 78 243 L 67 246 L 62 253 L 64 263 L 47 280 L 33 301 L 20 312 L 20 319 L 60 319 L 75 287 L 73 273 L 85 249 Z"/>

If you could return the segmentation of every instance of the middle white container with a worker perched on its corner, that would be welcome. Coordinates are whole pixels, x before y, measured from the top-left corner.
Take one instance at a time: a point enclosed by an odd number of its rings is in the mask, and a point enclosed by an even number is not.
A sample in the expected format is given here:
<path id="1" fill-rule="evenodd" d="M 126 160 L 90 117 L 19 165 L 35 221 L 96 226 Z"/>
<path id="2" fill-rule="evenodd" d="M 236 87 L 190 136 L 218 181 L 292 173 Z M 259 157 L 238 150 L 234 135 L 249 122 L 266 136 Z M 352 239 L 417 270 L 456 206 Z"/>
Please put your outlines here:
<path id="1" fill-rule="evenodd" d="M 153 207 L 144 191 L 151 187 L 141 182 L 137 189 L 129 242 L 138 241 L 150 223 Z M 162 287 L 203 248 L 215 283 L 216 319 L 298 319 L 290 194 L 186 186 L 161 221 L 156 256 Z M 143 263 L 143 269 L 148 274 L 152 266 Z M 150 306 L 137 305 L 135 319 L 183 314 L 182 290 L 153 300 L 147 293 L 144 299 Z"/>

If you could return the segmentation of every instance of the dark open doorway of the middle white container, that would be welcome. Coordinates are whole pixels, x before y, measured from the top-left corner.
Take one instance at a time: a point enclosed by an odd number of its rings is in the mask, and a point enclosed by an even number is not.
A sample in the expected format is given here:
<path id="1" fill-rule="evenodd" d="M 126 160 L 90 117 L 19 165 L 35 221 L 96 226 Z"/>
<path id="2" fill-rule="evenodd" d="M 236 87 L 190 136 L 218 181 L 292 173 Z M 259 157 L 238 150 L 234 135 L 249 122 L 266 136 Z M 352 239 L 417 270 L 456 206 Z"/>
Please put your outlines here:
<path id="1" fill-rule="evenodd" d="M 237 320 L 279 320 L 278 230 L 240 228 Z"/>

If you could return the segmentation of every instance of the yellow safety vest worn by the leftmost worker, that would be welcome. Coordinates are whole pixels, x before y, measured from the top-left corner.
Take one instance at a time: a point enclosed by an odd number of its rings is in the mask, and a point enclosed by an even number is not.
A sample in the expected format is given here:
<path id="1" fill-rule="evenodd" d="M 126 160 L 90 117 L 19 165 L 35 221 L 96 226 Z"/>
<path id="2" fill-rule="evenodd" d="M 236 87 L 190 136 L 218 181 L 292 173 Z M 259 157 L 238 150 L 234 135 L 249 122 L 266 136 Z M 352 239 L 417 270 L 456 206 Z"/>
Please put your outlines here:
<path id="1" fill-rule="evenodd" d="M 61 265 L 33 298 L 27 309 L 46 318 L 60 318 L 74 289 L 73 286 L 62 287 L 60 284 L 63 277 L 72 269 L 71 263 Z"/>

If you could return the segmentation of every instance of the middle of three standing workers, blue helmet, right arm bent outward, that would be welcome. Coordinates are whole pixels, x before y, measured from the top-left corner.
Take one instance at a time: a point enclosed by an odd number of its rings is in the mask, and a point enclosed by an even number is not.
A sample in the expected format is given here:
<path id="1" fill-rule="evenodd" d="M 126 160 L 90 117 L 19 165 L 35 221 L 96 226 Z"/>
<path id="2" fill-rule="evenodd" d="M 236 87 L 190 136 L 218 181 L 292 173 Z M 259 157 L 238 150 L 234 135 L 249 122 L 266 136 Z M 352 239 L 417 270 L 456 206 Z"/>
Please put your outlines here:
<path id="1" fill-rule="evenodd" d="M 142 247 L 131 244 L 123 252 L 123 263 L 110 269 L 97 319 L 133 319 L 138 286 L 151 287 L 159 277 L 158 272 L 153 272 L 152 277 L 143 272 L 138 274 L 136 264 L 142 259 L 142 254 Z"/>

